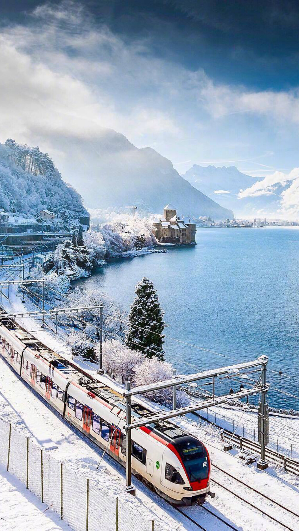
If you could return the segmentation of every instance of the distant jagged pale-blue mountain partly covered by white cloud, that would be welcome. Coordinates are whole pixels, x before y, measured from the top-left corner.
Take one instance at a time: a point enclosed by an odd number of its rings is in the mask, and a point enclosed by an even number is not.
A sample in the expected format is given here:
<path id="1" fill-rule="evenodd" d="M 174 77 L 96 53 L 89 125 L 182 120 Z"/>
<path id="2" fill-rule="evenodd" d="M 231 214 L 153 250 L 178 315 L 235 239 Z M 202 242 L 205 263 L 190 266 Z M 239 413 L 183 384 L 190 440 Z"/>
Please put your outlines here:
<path id="1" fill-rule="evenodd" d="M 238 199 L 239 192 L 262 179 L 241 173 L 235 166 L 203 167 L 197 164 L 188 169 L 183 178 L 212 199 L 221 201 L 224 207 L 232 208 L 236 217 L 254 211 L 256 204 L 253 198 L 246 198 L 247 201 Z"/>

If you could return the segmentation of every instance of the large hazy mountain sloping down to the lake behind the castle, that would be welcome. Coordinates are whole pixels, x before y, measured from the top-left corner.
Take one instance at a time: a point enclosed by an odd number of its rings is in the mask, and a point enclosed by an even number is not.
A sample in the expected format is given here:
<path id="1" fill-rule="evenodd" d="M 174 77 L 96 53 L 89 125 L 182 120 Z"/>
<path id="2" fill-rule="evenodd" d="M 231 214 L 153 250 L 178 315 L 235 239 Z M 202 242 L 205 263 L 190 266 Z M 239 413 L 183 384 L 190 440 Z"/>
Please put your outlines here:
<path id="1" fill-rule="evenodd" d="M 154 149 L 138 149 L 113 130 L 103 130 L 93 140 L 72 139 L 71 150 L 63 138 L 55 150 L 63 150 L 64 173 L 90 208 L 124 208 L 137 205 L 142 212 L 159 213 L 171 202 L 183 216 L 233 217 L 230 209 L 196 190 L 173 168 L 170 160 Z"/>

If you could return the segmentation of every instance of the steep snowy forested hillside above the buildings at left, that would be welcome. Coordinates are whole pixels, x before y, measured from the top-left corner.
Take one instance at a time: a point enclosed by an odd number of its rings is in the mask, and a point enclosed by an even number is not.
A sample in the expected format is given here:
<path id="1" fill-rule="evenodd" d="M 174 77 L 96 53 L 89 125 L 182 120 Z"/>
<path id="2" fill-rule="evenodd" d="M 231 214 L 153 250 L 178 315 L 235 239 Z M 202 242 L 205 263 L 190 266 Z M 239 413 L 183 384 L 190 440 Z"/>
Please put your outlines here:
<path id="1" fill-rule="evenodd" d="M 63 181 L 47 153 L 12 139 L 0 144 L 0 208 L 33 216 L 41 209 L 65 210 L 83 224 L 89 216 L 81 196 Z"/>

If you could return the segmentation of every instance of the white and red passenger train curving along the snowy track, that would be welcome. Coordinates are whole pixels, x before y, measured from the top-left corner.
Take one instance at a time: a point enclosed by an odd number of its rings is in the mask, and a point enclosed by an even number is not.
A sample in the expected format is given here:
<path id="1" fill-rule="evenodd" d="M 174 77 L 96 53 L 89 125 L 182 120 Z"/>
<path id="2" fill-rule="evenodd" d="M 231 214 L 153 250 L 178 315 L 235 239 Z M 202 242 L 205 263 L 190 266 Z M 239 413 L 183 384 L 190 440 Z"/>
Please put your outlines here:
<path id="1" fill-rule="evenodd" d="M 51 407 L 126 465 L 125 399 L 108 377 L 92 376 L 43 345 L 0 309 L 0 354 Z M 152 413 L 137 398 L 131 416 Z M 211 462 L 200 440 L 169 421 L 132 430 L 132 473 L 175 506 L 204 503 Z"/>

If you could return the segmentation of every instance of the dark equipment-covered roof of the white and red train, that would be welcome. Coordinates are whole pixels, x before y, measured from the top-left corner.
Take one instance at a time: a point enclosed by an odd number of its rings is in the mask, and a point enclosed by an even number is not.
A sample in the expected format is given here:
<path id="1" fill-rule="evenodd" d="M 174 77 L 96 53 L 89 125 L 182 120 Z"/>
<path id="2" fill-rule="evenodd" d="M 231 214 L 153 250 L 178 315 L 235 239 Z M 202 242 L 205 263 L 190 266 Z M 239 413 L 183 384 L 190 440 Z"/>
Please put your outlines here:
<path id="1" fill-rule="evenodd" d="M 0 309 L 0 316 L 5 315 L 6 312 Z M 31 332 L 25 330 L 14 319 L 7 317 L 7 319 L 1 319 L 1 325 L 7 328 L 13 335 L 22 342 L 22 344 L 31 350 L 37 351 L 39 356 L 50 365 L 55 367 L 58 371 L 63 373 L 70 382 L 75 382 L 85 388 L 89 393 L 95 397 L 99 397 L 102 400 L 108 402 L 112 406 L 117 406 L 121 412 L 126 409 L 126 401 L 124 395 L 119 392 L 116 387 L 109 386 L 108 382 L 101 381 L 101 376 L 92 375 L 90 372 L 85 371 L 80 366 L 64 358 L 60 354 L 57 354 L 54 350 L 44 345 L 39 339 L 32 335 Z M 107 380 L 107 377 L 105 377 Z M 112 383 L 112 382 L 111 382 Z M 151 414 L 156 414 L 156 411 L 146 407 L 142 401 L 138 398 L 131 401 L 131 415 L 135 418 L 150 417 Z M 175 424 L 169 421 L 158 421 L 151 423 L 150 418 L 147 424 L 150 431 L 154 431 L 159 434 L 163 440 L 172 441 L 175 438 L 186 435 L 186 432 L 180 429 Z"/>

